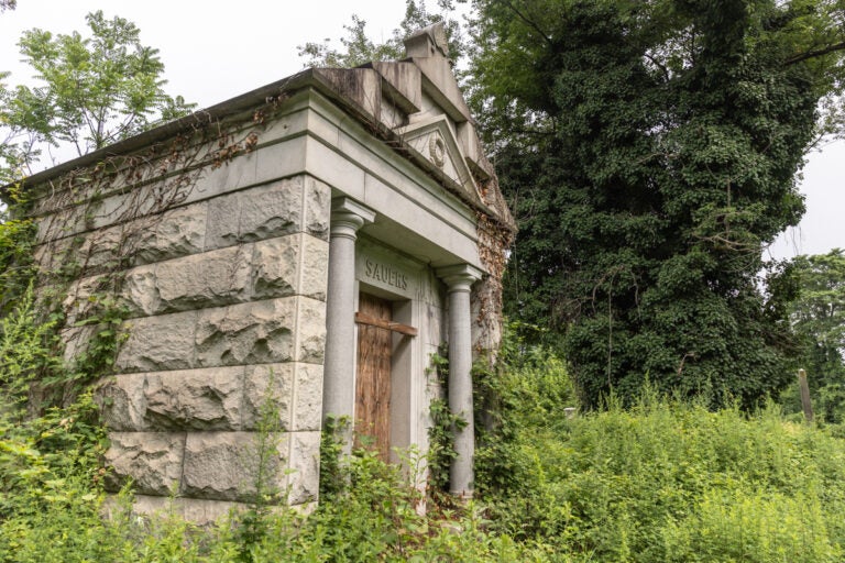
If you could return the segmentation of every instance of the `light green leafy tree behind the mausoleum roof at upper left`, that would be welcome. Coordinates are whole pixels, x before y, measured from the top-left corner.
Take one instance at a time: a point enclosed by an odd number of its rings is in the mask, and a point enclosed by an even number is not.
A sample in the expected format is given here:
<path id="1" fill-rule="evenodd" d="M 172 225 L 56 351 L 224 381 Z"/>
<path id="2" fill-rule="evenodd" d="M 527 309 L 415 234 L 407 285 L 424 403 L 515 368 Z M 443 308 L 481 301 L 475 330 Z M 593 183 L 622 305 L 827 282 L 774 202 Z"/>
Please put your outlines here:
<path id="1" fill-rule="evenodd" d="M 83 155 L 187 113 L 194 104 L 164 91 L 158 51 L 141 44 L 140 30 L 102 11 L 86 15 L 90 36 L 54 36 L 39 29 L 19 43 L 35 70 L 36 87 L 0 85 L 2 157 L 0 184 L 14 177 L 43 146 L 69 144 Z M 0 79 L 8 78 L 8 73 Z"/>

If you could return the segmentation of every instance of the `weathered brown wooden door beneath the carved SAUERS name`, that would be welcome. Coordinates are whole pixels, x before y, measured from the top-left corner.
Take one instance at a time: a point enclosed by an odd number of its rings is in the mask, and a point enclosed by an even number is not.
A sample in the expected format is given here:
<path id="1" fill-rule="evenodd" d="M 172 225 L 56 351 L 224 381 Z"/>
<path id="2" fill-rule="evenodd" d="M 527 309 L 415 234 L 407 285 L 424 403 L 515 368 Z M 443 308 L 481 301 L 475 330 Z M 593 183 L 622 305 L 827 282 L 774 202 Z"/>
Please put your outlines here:
<path id="1" fill-rule="evenodd" d="M 376 321 L 358 324 L 355 422 L 359 434 L 370 437 L 383 460 L 391 454 L 391 301 L 361 294 L 359 316 Z M 377 322 L 383 321 L 383 322 Z M 383 324 L 378 327 L 376 324 Z"/>

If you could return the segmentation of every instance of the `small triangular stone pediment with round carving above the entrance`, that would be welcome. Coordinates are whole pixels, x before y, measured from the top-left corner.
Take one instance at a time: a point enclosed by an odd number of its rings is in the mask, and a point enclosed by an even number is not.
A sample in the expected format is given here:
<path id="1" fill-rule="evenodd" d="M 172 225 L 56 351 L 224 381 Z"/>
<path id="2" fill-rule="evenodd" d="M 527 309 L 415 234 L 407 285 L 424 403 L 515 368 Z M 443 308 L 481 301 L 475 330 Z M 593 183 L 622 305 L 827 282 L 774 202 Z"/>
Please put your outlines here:
<path id="1" fill-rule="evenodd" d="M 451 120 L 445 114 L 428 118 L 396 130 L 405 145 L 430 164 L 432 172 L 457 185 L 471 201 L 484 205 L 460 148 Z"/>

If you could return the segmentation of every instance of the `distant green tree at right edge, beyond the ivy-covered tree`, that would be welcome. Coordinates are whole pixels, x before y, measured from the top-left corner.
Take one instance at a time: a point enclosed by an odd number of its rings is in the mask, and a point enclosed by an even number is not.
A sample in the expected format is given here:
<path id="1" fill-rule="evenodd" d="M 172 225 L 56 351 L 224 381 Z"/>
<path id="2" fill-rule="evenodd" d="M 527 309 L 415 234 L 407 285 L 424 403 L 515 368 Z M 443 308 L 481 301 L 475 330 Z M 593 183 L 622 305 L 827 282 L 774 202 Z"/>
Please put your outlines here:
<path id="1" fill-rule="evenodd" d="M 801 292 L 790 319 L 801 338 L 797 367 L 808 371 L 813 401 L 830 422 L 845 416 L 845 253 L 798 256 L 792 261 Z M 793 401 L 795 402 L 795 401 Z M 797 402 L 795 402 L 797 404 Z"/>

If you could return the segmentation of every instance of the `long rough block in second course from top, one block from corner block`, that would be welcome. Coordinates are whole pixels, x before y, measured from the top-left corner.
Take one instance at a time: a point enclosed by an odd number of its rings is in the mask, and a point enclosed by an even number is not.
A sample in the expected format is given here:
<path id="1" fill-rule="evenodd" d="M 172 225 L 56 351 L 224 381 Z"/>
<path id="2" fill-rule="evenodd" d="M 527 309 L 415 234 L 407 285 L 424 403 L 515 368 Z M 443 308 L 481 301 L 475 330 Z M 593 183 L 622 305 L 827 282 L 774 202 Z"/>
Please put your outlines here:
<path id="1" fill-rule="evenodd" d="M 158 263 L 160 309 L 184 311 L 248 300 L 251 256 L 251 245 L 230 246 Z"/>

